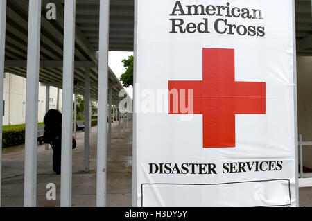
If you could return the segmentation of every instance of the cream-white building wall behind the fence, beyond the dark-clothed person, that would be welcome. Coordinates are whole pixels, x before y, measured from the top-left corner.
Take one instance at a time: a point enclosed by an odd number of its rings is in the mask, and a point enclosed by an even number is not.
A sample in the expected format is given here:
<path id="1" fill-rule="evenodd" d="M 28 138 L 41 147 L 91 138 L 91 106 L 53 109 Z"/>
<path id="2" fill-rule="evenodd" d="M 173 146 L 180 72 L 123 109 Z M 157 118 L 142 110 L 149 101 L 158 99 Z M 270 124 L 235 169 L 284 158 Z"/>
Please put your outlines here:
<path id="1" fill-rule="evenodd" d="M 3 125 L 19 125 L 25 123 L 26 114 L 26 78 L 6 73 L 3 82 L 3 100 L 5 101 L 5 115 Z M 58 89 L 50 87 L 50 109 L 57 107 Z M 60 89 L 59 110 L 62 110 L 62 89 Z M 38 122 L 43 122 L 46 114 L 46 87 L 39 87 Z"/>

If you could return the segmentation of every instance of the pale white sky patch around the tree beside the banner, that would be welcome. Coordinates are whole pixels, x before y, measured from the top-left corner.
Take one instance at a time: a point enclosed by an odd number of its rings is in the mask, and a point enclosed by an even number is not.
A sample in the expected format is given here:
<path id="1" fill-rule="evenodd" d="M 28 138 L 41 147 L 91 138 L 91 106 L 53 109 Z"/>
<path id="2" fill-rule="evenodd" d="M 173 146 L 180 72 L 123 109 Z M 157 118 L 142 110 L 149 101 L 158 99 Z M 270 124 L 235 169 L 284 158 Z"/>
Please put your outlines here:
<path id="1" fill-rule="evenodd" d="M 118 79 L 120 78 L 121 74 L 125 73 L 125 67 L 123 67 L 123 62 L 121 62 L 121 60 L 128 58 L 128 56 L 130 55 L 133 55 L 133 52 L 110 51 L 108 57 L 108 65 Z M 129 96 L 132 98 L 132 86 L 126 88 L 126 90 Z"/>

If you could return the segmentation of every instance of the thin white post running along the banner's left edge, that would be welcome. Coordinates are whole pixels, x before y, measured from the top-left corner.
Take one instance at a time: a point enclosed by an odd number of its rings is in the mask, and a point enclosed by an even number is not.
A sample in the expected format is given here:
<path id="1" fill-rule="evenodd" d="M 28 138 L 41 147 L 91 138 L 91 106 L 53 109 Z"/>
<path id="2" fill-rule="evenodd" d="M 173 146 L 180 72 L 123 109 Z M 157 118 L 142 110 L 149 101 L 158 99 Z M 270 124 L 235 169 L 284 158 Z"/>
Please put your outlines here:
<path id="1" fill-rule="evenodd" d="M 133 85 L 137 83 L 137 0 L 135 0 L 135 38 L 133 46 Z M 132 207 L 137 207 L 137 89 L 133 87 L 133 116 L 132 116 Z"/>

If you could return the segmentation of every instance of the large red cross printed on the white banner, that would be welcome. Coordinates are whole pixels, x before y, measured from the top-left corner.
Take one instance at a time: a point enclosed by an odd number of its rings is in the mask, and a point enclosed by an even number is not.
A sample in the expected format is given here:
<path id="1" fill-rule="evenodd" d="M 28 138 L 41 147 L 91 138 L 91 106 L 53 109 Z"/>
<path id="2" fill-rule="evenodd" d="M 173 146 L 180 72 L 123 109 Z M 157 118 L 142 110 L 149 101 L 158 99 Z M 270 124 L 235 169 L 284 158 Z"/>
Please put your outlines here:
<path id="1" fill-rule="evenodd" d="M 203 147 L 234 148 L 235 114 L 266 114 L 266 83 L 235 81 L 234 49 L 202 53 L 202 81 L 169 81 L 169 114 L 202 114 Z M 191 101 L 193 113 L 185 112 Z"/>

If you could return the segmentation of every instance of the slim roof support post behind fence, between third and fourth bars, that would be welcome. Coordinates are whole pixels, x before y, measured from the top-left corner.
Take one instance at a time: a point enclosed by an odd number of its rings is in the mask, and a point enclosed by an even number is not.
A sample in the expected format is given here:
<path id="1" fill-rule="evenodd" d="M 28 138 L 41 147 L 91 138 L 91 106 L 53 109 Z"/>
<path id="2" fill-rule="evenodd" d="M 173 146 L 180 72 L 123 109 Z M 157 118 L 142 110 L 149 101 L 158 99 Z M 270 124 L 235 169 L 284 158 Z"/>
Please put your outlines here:
<path id="1" fill-rule="evenodd" d="M 90 69 L 85 68 L 85 172 L 89 172 L 90 145 Z"/>

